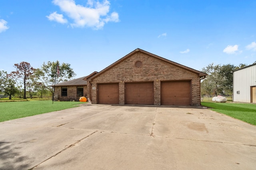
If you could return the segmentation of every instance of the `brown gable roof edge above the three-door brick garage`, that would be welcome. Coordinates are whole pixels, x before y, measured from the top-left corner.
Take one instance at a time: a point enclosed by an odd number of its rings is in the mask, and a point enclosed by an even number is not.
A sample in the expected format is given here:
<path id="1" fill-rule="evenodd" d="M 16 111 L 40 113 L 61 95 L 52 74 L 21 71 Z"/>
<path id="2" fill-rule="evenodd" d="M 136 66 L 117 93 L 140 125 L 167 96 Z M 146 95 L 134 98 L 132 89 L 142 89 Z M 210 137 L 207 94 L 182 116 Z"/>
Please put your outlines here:
<path id="1" fill-rule="evenodd" d="M 140 52 L 140 53 L 147 54 L 147 55 L 149 55 L 149 56 L 151 56 L 151 57 L 154 57 L 154 58 L 159 59 L 159 60 L 161 60 L 161 61 L 164 61 L 164 62 L 166 62 L 166 63 L 172 64 L 172 65 L 174 65 L 174 66 L 183 68 L 183 69 L 188 70 L 188 71 L 190 71 L 190 72 L 194 72 L 194 73 L 198 74 L 198 76 L 200 76 L 200 77 L 204 77 L 204 78 L 205 78 L 205 76 L 207 75 L 207 74 L 204 73 L 204 72 L 200 72 L 200 71 L 195 70 L 195 69 L 193 69 L 193 68 L 189 68 L 189 67 L 184 66 L 184 65 L 182 65 L 182 64 L 175 63 L 175 62 L 170 61 L 170 60 L 168 60 L 168 59 L 164 59 L 163 57 L 160 57 L 160 56 L 158 56 L 158 55 L 154 55 L 154 54 L 152 54 L 152 53 L 149 53 L 149 52 L 147 52 L 147 51 L 144 51 L 144 50 L 142 50 L 142 49 L 137 48 L 137 49 L 135 49 L 134 51 L 132 51 L 131 53 L 129 53 L 128 55 L 122 57 L 121 59 L 119 59 L 119 60 L 116 61 L 115 63 L 111 64 L 110 66 L 104 68 L 103 70 L 101 70 L 100 72 L 98 72 L 97 74 L 95 74 L 94 76 L 92 76 L 91 79 L 93 80 L 94 78 L 98 77 L 100 74 L 106 72 L 107 70 L 113 68 L 113 67 L 116 66 L 117 64 L 119 64 L 119 63 L 121 63 L 122 61 L 124 61 L 125 59 L 128 59 L 128 58 L 131 57 L 132 55 L 134 55 L 134 54 L 136 54 L 136 53 L 139 53 L 139 52 Z M 86 77 L 86 78 L 87 78 L 87 77 Z M 87 79 L 86 79 L 86 80 L 87 80 Z"/>

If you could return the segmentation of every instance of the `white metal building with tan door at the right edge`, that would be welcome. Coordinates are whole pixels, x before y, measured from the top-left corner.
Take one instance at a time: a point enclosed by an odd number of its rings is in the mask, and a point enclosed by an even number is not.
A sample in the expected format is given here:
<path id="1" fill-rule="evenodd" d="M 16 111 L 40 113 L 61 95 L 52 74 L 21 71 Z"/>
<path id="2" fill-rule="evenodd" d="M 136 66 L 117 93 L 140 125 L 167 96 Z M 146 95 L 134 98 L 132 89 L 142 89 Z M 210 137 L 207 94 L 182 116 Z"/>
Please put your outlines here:
<path id="1" fill-rule="evenodd" d="M 233 72 L 233 102 L 256 103 L 256 63 Z"/>

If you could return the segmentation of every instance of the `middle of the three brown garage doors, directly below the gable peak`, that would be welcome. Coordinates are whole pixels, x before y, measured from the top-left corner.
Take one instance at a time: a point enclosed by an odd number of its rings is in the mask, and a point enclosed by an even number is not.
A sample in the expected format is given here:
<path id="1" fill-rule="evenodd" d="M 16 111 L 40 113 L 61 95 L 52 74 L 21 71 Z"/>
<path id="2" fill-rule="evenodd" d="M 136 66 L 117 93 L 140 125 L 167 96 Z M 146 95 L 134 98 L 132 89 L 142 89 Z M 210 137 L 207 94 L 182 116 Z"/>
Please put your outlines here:
<path id="1" fill-rule="evenodd" d="M 153 82 L 126 83 L 126 104 L 154 104 Z"/>

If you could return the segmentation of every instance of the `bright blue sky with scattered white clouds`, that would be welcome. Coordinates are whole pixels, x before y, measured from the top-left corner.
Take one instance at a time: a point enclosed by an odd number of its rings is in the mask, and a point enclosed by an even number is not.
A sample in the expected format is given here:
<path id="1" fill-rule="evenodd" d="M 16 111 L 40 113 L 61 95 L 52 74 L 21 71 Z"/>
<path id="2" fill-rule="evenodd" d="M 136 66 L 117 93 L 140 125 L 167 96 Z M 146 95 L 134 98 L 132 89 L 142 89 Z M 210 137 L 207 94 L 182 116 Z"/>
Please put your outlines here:
<path id="1" fill-rule="evenodd" d="M 256 61 L 255 0 L 0 0 L 0 70 L 69 63 L 80 78 L 140 48 L 202 70 Z"/>

